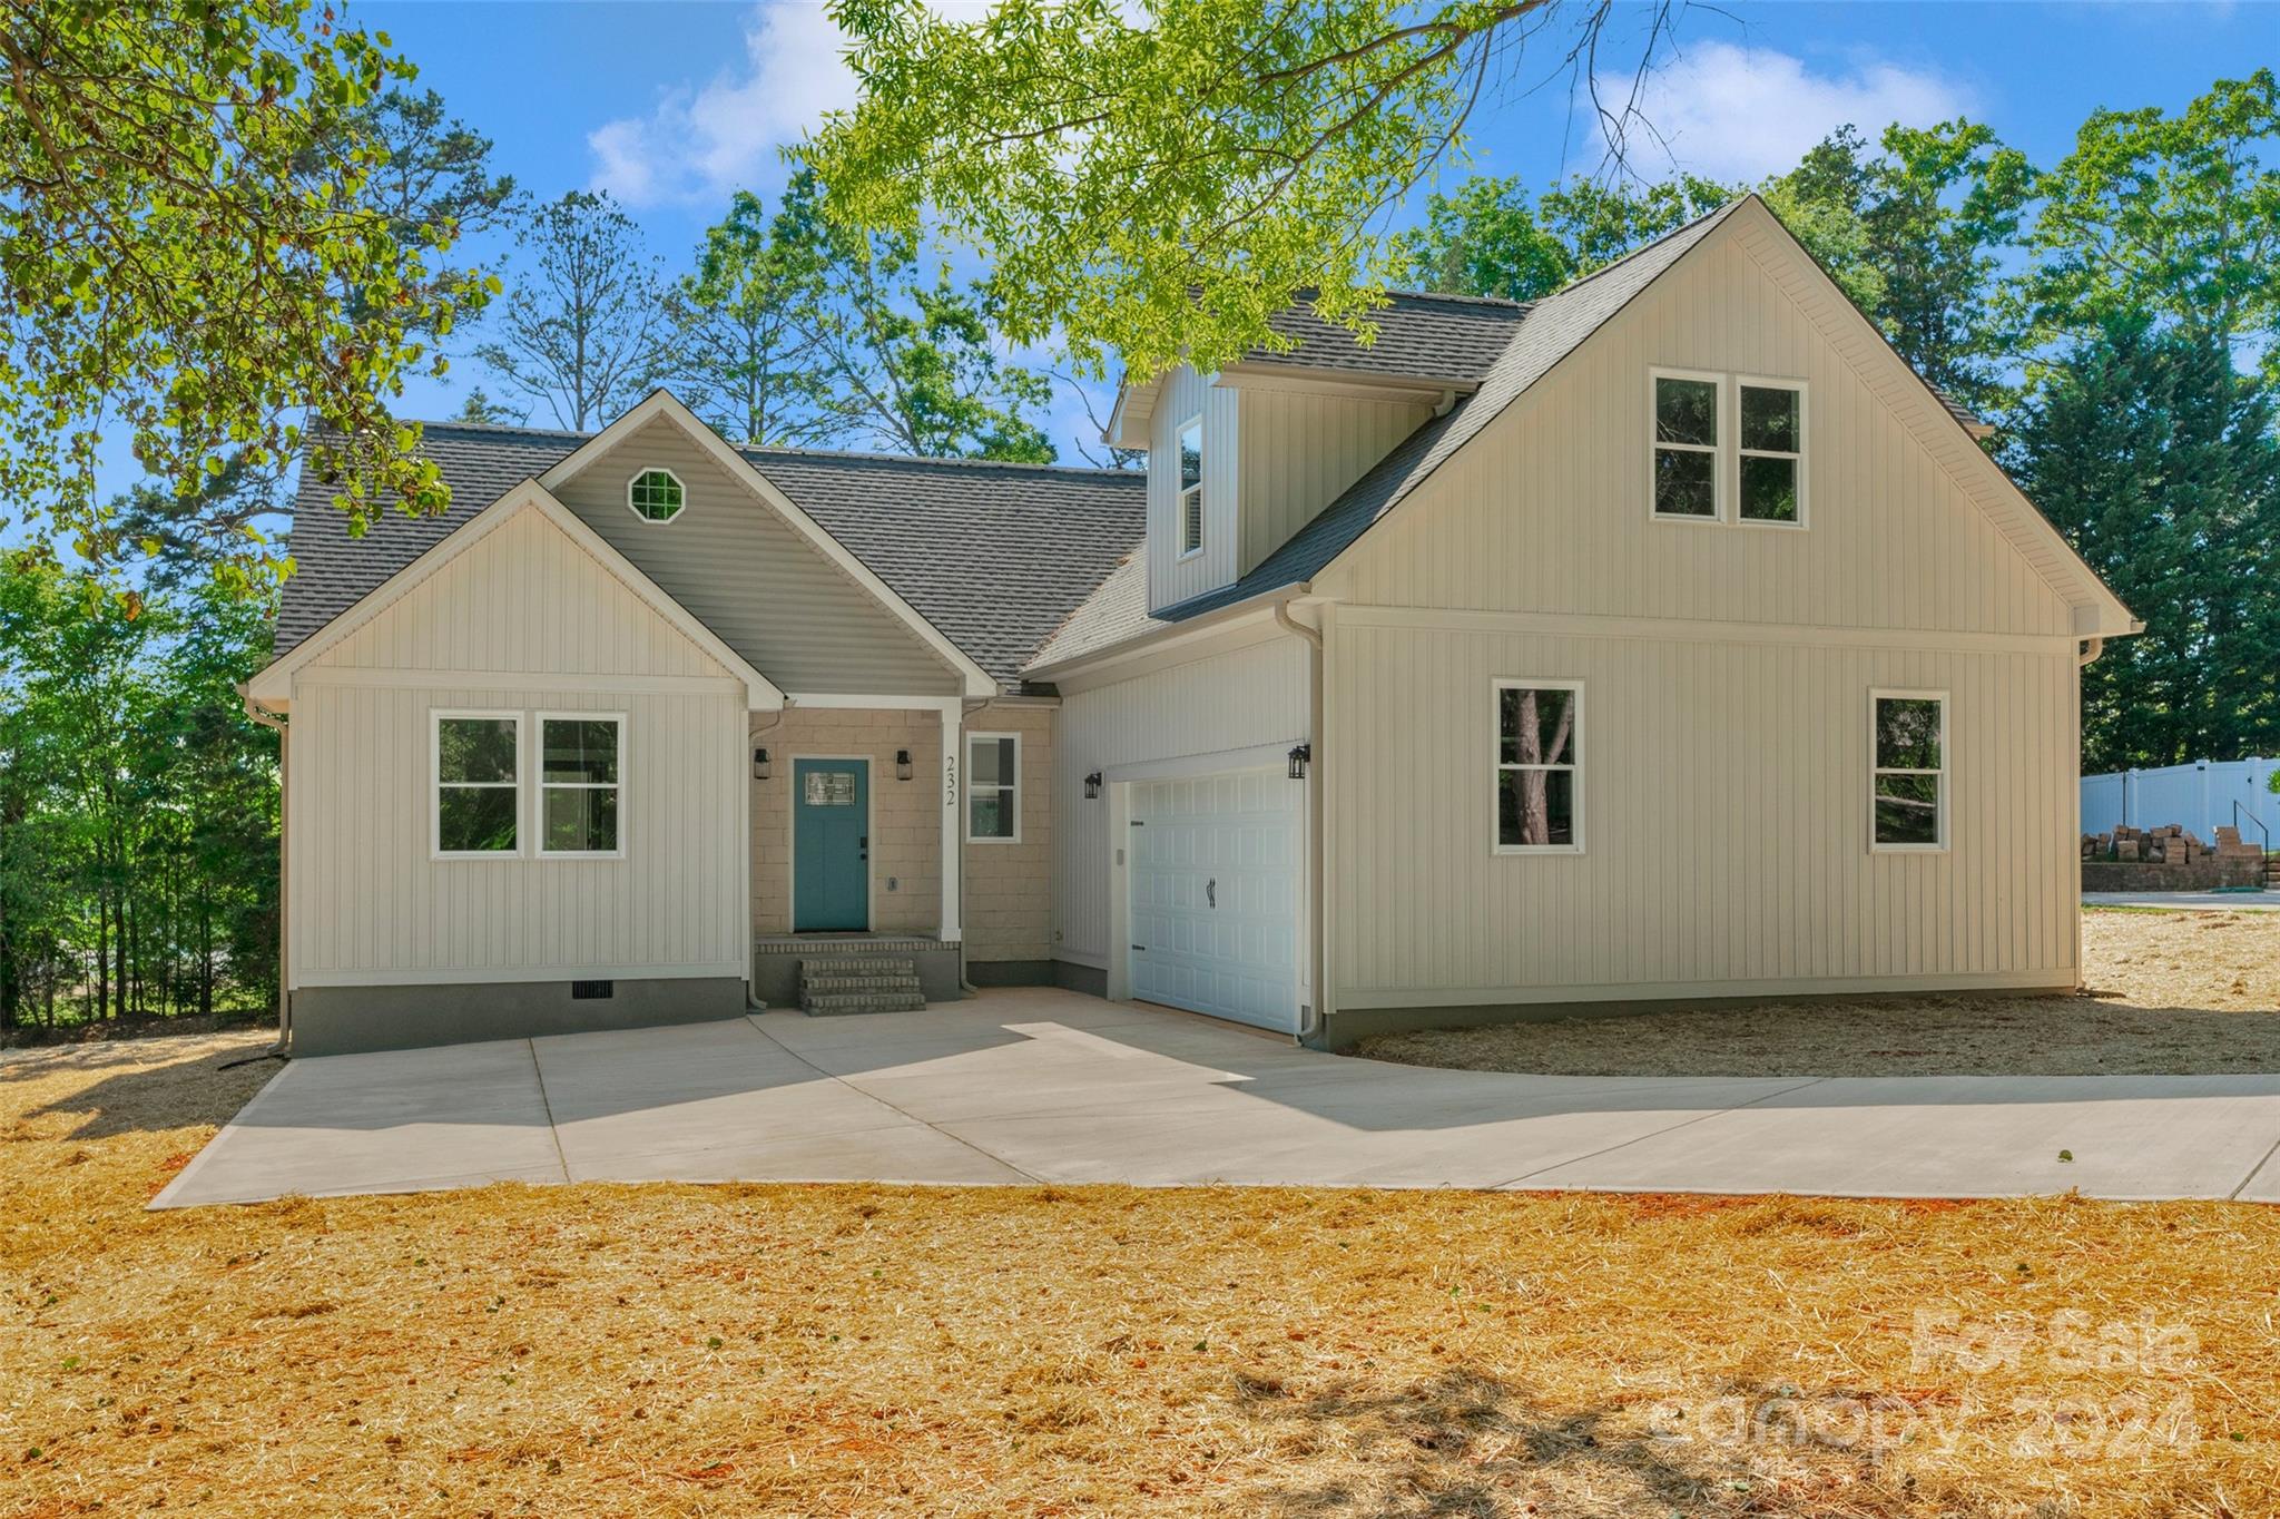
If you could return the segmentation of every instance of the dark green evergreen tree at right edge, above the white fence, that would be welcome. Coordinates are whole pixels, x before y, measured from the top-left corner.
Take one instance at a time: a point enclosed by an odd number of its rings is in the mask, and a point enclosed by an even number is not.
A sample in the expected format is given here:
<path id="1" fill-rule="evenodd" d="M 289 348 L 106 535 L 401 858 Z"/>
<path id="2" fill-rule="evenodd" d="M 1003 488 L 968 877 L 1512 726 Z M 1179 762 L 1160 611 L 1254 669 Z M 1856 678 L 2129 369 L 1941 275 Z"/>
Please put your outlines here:
<path id="1" fill-rule="evenodd" d="M 2225 344 L 2116 312 L 2050 369 L 2011 468 L 2145 632 L 2082 673 L 2082 766 L 2280 748 L 2280 440 Z"/>

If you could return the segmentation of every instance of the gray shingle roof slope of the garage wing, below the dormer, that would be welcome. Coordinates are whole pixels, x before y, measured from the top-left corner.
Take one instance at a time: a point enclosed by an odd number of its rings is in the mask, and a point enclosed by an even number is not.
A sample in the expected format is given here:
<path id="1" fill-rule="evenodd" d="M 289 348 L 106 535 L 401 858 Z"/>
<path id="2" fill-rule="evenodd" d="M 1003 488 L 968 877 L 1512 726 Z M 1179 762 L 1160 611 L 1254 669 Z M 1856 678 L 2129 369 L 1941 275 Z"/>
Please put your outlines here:
<path id="1" fill-rule="evenodd" d="M 1147 577 L 1140 577 L 1138 607 L 1133 607 L 1133 586 L 1126 584 L 1126 577 L 1115 575 L 1092 595 L 1097 604 L 1088 604 L 1078 616 L 1069 618 L 1053 641 L 1047 643 L 1033 668 L 1099 652 L 1142 632 L 1172 627 L 1206 611 L 1247 602 L 1254 595 L 1306 584 L 1411 490 L 1425 484 L 1441 468 L 1441 461 L 1480 436 L 1530 385 L 1550 374 L 1553 365 L 1582 347 L 1607 317 L 1623 310 L 1655 276 L 1708 237 L 1737 205 L 1742 201 L 1728 201 L 1660 242 L 1651 242 L 1637 253 L 1619 258 L 1573 285 L 1530 303 L 1525 319 L 1514 331 L 1505 351 L 1489 365 L 1480 390 L 1459 399 L 1446 417 L 1432 417 L 1409 433 L 1368 474 L 1347 486 L 1306 527 L 1297 529 L 1288 543 L 1261 559 L 1249 575 L 1218 591 L 1163 607 L 1156 616 L 1147 611 Z"/>

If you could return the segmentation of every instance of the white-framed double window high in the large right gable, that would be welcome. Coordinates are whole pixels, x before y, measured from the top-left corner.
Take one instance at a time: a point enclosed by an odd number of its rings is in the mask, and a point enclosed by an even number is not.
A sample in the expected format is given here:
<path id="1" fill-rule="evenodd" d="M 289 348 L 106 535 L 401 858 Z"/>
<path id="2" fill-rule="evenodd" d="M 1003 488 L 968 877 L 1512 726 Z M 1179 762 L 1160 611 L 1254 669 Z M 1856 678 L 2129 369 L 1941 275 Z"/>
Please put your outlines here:
<path id="1" fill-rule="evenodd" d="M 1651 381 L 1658 520 L 1806 525 L 1803 381 L 1694 369 Z"/>

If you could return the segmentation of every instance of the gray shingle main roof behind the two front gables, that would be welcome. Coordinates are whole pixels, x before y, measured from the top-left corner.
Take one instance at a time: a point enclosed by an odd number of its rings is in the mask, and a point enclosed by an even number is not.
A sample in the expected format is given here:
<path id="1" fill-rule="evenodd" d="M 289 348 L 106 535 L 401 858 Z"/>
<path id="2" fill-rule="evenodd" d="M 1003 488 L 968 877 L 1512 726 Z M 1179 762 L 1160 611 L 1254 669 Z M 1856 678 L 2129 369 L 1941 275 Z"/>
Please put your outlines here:
<path id="1" fill-rule="evenodd" d="M 451 486 L 442 518 L 385 513 L 351 538 L 333 488 L 301 470 L 283 655 L 591 433 L 429 422 Z M 739 449 L 919 616 L 1005 684 L 1145 531 L 1145 477 L 964 458 Z"/>

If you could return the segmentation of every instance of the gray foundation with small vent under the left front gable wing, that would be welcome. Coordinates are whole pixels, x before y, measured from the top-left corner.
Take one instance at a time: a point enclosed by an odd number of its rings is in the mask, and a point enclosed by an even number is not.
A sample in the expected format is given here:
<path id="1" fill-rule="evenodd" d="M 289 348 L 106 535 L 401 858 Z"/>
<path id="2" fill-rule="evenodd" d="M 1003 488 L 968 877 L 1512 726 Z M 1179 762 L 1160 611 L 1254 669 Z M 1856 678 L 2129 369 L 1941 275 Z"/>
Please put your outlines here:
<path id="1" fill-rule="evenodd" d="M 570 981 L 306 985 L 292 994 L 292 1054 L 654 1029 L 743 1017 L 743 981 L 732 976 L 613 981 L 609 997 L 570 997 Z"/>

